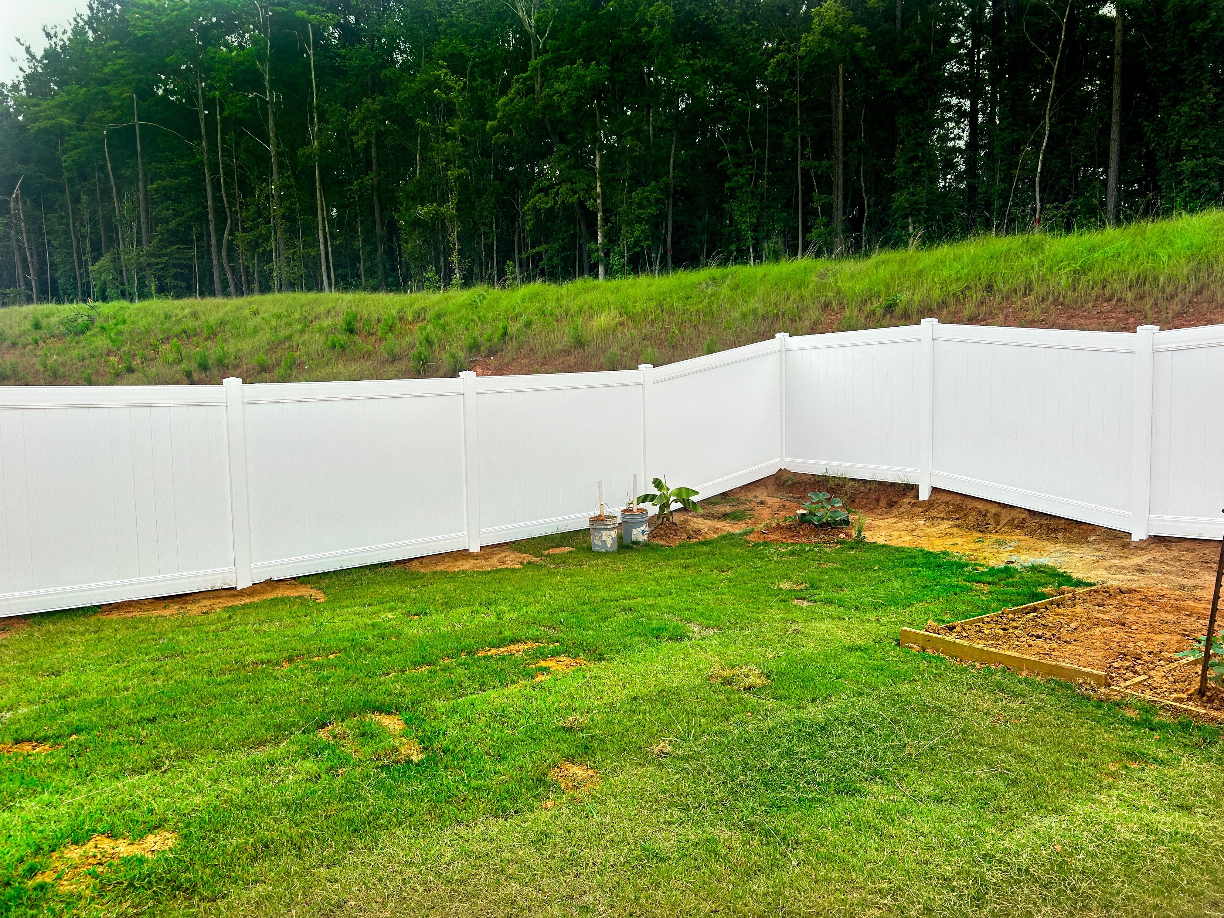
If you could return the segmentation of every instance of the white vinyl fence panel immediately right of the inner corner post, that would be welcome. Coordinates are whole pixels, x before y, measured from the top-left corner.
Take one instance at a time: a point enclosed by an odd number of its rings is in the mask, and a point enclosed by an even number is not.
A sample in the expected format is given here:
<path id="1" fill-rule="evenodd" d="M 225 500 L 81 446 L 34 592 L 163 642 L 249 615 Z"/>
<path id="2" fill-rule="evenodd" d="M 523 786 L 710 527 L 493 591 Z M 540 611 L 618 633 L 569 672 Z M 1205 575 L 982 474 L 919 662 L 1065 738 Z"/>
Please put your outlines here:
<path id="1" fill-rule="evenodd" d="M 792 338 L 783 465 L 916 482 L 918 346 L 914 326 Z"/>

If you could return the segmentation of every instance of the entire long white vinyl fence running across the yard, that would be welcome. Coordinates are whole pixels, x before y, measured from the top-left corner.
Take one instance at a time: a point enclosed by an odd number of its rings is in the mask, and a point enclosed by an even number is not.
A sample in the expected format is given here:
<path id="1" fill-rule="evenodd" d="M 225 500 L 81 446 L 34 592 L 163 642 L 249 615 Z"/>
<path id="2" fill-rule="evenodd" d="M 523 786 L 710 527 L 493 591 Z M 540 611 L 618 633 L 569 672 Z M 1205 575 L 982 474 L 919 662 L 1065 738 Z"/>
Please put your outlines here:
<path id="1" fill-rule="evenodd" d="M 0 387 L 0 616 L 586 526 L 778 469 L 1224 535 L 1224 326 L 778 335 L 603 373 Z"/>

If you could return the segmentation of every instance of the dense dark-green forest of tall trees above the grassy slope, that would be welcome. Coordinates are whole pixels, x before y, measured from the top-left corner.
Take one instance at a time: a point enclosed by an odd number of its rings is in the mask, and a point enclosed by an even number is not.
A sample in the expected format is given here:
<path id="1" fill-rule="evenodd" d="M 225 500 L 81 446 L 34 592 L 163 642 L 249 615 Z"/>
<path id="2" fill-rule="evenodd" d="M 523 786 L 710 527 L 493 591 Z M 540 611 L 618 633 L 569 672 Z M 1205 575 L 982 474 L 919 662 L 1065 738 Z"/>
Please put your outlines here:
<path id="1" fill-rule="evenodd" d="M 1224 0 L 93 0 L 0 94 L 5 302 L 428 290 L 1224 198 Z"/>

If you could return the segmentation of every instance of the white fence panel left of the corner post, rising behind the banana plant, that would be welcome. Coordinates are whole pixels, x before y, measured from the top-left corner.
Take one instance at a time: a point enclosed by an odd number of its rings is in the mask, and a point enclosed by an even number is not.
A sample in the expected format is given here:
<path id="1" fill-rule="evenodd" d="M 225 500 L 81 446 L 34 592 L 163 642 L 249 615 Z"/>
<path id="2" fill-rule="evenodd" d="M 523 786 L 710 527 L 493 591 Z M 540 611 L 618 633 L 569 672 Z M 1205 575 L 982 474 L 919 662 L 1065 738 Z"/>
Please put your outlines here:
<path id="1" fill-rule="evenodd" d="M 780 365 L 775 339 L 655 370 L 646 474 L 710 497 L 777 471 Z"/>

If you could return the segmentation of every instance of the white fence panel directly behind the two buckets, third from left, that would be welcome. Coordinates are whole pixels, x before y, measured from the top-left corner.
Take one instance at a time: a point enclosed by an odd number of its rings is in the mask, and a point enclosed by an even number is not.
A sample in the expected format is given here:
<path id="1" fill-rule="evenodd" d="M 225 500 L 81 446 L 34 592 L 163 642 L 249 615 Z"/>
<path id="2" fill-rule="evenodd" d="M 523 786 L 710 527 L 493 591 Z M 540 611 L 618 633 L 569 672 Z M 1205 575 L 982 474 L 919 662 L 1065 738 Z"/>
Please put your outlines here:
<path id="1" fill-rule="evenodd" d="M 641 468 L 641 373 L 476 379 L 482 545 L 581 529 Z"/>

